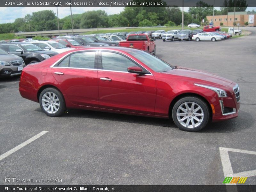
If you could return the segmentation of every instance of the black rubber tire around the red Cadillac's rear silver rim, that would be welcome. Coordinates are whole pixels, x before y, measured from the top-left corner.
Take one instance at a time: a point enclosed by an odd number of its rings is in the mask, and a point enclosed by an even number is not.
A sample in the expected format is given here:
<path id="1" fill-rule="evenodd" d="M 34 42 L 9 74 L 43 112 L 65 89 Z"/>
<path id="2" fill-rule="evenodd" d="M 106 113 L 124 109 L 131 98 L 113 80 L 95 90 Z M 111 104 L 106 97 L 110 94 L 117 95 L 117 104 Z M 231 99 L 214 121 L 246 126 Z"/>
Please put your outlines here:
<path id="1" fill-rule="evenodd" d="M 50 92 L 50 93 L 54 93 L 57 97 L 57 99 L 59 100 L 58 104 L 59 104 L 59 108 L 58 110 L 55 112 L 55 113 L 50 113 L 50 112 L 47 112 L 44 107 L 43 107 L 43 103 L 44 101 L 42 101 L 42 98 L 44 96 L 44 94 L 47 92 Z M 56 98 L 55 97 L 55 98 Z M 49 100 L 50 101 L 50 100 Z M 49 102 L 50 103 L 50 102 Z M 57 103 L 57 102 L 56 102 Z M 44 89 L 41 93 L 40 93 L 40 96 L 39 96 L 39 104 L 40 104 L 40 107 L 41 109 L 44 111 L 44 113 L 47 115 L 47 116 L 51 116 L 51 117 L 57 117 L 57 116 L 61 116 L 65 111 L 66 111 L 66 103 L 65 103 L 65 100 L 64 100 L 64 97 L 62 95 L 62 93 L 60 91 L 58 91 L 57 89 L 53 88 L 53 87 L 49 87 L 49 88 L 46 88 Z M 51 103 L 50 103 L 51 104 Z M 52 103 L 53 104 L 53 103 Z M 48 105 L 49 106 L 49 105 Z"/>

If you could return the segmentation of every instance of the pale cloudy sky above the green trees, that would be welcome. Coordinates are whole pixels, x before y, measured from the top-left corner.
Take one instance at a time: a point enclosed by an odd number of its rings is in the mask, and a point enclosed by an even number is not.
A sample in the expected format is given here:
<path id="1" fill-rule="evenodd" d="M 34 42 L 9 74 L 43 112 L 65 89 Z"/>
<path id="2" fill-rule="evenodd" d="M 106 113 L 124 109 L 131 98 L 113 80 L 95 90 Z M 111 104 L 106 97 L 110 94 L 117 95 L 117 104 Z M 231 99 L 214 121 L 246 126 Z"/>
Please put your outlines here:
<path id="1" fill-rule="evenodd" d="M 220 10 L 219 7 L 215 7 L 217 10 Z M 256 11 L 256 7 L 248 7 L 247 11 Z M 23 18 L 27 14 L 32 14 L 32 12 L 43 11 L 43 10 L 52 10 L 56 13 L 56 7 L 0 7 L 0 23 L 12 23 L 17 18 Z M 72 7 L 72 14 L 83 13 L 86 11 L 92 10 L 104 10 L 111 14 L 118 14 L 124 10 L 124 7 Z M 184 7 L 184 11 L 188 11 L 188 7 Z M 65 16 L 70 15 L 69 7 L 59 7 L 59 18 L 62 19 Z"/>

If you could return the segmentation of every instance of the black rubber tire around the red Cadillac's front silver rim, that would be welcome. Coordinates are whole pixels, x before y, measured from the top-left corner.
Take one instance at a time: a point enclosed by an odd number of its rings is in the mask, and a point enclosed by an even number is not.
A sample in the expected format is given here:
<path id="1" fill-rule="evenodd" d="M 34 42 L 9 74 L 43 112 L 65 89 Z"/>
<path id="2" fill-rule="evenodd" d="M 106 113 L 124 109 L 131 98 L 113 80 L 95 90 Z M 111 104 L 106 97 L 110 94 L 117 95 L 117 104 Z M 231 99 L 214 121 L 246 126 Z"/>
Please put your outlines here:
<path id="1" fill-rule="evenodd" d="M 191 111 L 189 111 L 188 115 L 186 115 L 186 116 L 188 116 L 186 119 L 181 121 L 181 123 L 179 122 L 176 114 L 180 114 L 180 108 L 179 107 L 182 107 L 182 105 L 186 102 L 188 102 L 188 107 L 190 107 L 190 109 L 192 108 L 192 106 L 191 106 L 192 103 L 195 103 L 195 106 L 200 106 L 200 109 L 197 110 L 196 112 L 198 114 L 200 114 L 200 113 L 203 114 L 203 117 L 199 117 L 200 119 L 198 118 L 199 120 L 202 120 L 202 122 L 199 122 L 199 121 L 195 120 L 194 117 L 192 117 L 193 112 L 191 112 Z M 189 103 L 191 103 L 190 106 L 189 106 Z M 185 111 L 187 110 L 185 108 L 183 108 L 183 109 Z M 185 112 L 184 112 L 184 114 L 185 114 Z M 178 116 L 180 116 L 180 115 L 178 115 Z M 185 115 L 184 115 L 184 117 L 185 117 Z M 182 119 L 184 117 L 180 116 L 179 118 Z M 209 108 L 208 108 L 207 104 L 203 100 L 201 100 L 200 98 L 192 97 L 192 96 L 191 97 L 189 97 L 189 96 L 188 97 L 183 97 L 174 104 L 174 106 L 172 108 L 172 119 L 173 119 L 174 123 L 179 127 L 180 130 L 189 131 L 189 132 L 196 132 L 196 131 L 199 131 L 199 130 L 203 129 L 205 127 L 205 125 L 209 122 L 210 111 L 209 111 Z M 191 119 L 191 120 L 189 120 L 189 119 Z M 192 120 L 195 124 L 195 127 L 189 127 L 189 126 L 192 126 Z M 186 121 L 186 123 L 189 121 L 188 122 L 188 127 L 182 125 L 182 124 L 184 124 L 184 121 Z M 191 123 L 191 125 L 190 125 L 190 123 Z"/>

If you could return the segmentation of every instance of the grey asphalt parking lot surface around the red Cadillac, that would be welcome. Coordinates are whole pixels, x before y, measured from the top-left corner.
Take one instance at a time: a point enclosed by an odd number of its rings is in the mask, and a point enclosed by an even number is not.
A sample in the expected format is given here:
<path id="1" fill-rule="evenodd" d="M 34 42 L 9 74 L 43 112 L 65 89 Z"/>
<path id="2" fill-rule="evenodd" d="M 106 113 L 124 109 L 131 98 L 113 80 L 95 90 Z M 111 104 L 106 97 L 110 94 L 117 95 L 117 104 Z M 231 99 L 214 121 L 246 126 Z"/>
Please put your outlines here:
<path id="1" fill-rule="evenodd" d="M 247 174 L 245 184 L 255 185 L 256 28 L 247 30 L 252 34 L 219 42 L 156 40 L 156 56 L 240 86 L 238 118 L 208 124 L 201 132 L 180 131 L 168 119 L 85 110 L 48 117 L 38 103 L 20 96 L 18 77 L 0 79 L 0 185 L 223 185 L 230 170 L 227 156 L 220 155 L 225 148 L 231 171 Z"/>

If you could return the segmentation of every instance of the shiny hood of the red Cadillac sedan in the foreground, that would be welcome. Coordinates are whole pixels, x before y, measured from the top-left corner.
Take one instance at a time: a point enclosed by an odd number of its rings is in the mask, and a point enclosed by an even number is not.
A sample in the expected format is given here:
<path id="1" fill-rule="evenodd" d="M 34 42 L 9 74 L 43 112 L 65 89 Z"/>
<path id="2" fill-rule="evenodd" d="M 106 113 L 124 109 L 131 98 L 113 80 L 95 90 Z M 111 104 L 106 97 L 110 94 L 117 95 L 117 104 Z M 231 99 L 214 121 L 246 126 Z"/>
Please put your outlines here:
<path id="1" fill-rule="evenodd" d="M 233 81 L 228 80 L 226 78 L 223 78 L 223 77 L 211 74 L 211 73 L 207 73 L 207 72 L 204 72 L 204 71 L 200 71 L 200 70 L 196 70 L 196 69 L 190 69 L 190 68 L 177 67 L 177 68 L 175 68 L 171 71 L 167 71 L 167 72 L 164 72 L 164 73 L 177 75 L 177 76 L 190 77 L 190 78 L 198 79 L 198 80 L 201 80 L 201 81 L 211 82 L 211 84 L 220 84 L 220 85 L 223 85 L 223 86 L 228 86 L 228 85 L 233 83 Z M 205 82 L 205 83 L 208 84 L 208 85 L 211 85 L 207 82 Z M 198 82 L 195 82 L 195 83 L 198 83 Z M 203 83 L 203 82 L 201 82 L 201 83 Z"/>

